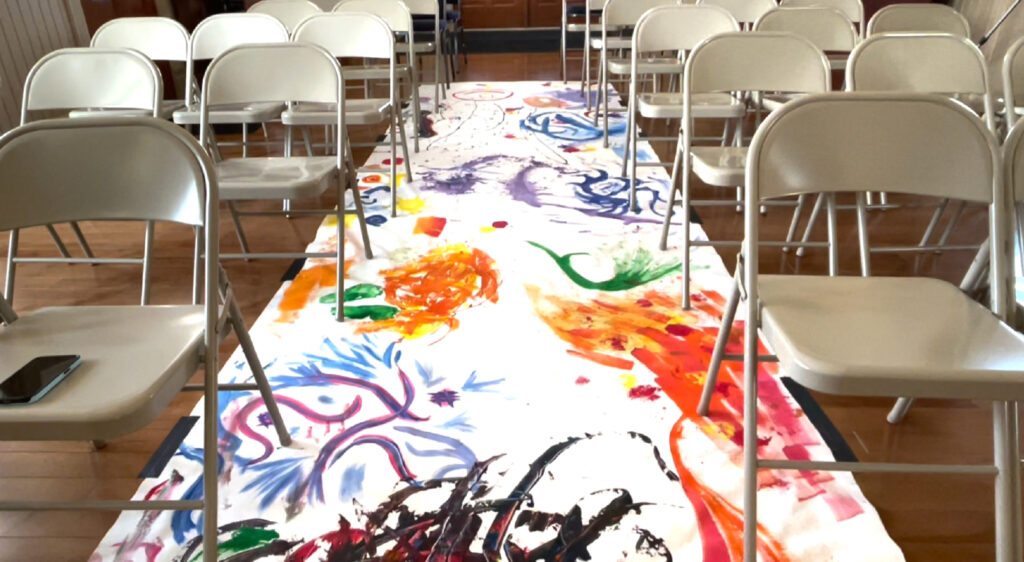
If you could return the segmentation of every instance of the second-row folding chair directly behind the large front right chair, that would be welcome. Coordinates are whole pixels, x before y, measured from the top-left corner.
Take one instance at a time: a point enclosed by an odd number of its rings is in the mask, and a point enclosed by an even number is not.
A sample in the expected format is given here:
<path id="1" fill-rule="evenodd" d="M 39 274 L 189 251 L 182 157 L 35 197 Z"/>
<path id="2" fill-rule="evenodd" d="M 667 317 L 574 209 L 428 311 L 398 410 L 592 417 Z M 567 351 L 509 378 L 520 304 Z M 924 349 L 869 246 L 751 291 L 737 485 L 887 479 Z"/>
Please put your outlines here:
<path id="1" fill-rule="evenodd" d="M 870 36 L 850 53 L 846 87 L 850 91 L 941 93 L 956 96 L 983 115 L 986 125 L 993 133 L 995 131 L 995 112 L 989 92 L 985 56 L 977 45 L 961 36 L 925 33 Z M 882 203 L 884 207 L 889 206 L 887 198 Z M 868 204 L 870 205 L 870 200 Z M 947 244 L 964 212 L 963 204 L 956 205 L 939 240 L 934 245 L 930 244 L 948 204 L 948 200 L 942 200 L 938 204 L 918 246 L 878 247 L 872 248 L 871 252 L 976 251 L 978 247 L 974 245 Z M 820 208 L 821 199 L 818 198 L 804 229 L 804 242 L 810 240 Z M 798 248 L 797 255 L 803 255 L 803 247 Z"/>

